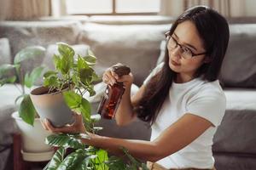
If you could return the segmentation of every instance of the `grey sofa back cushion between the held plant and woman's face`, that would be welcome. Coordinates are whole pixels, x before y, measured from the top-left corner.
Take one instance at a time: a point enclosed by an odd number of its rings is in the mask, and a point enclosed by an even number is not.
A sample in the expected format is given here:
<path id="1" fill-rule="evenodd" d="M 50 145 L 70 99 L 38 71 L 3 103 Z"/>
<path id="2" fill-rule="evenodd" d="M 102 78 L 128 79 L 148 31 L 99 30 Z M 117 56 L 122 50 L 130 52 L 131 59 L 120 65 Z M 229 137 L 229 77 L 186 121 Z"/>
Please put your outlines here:
<path id="1" fill-rule="evenodd" d="M 135 83 L 141 85 L 154 68 L 160 54 L 160 41 L 170 25 L 107 26 L 85 24 L 80 43 L 90 45 L 96 54 L 96 72 L 102 74 L 118 62 L 131 67 Z"/>

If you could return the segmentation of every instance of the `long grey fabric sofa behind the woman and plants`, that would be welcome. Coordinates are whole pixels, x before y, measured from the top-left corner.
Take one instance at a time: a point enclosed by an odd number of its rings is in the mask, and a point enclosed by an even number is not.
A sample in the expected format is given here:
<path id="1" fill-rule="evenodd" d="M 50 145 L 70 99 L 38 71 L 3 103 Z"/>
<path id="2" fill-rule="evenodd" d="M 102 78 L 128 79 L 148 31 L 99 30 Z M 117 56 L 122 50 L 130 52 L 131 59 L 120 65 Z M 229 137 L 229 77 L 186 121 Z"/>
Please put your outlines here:
<path id="1" fill-rule="evenodd" d="M 123 19 L 123 20 L 122 20 Z M 90 48 L 97 57 L 96 73 L 102 75 L 110 65 L 121 62 L 131 67 L 133 91 L 142 85 L 148 73 L 160 62 L 165 50 L 164 33 L 173 19 L 163 16 L 91 16 L 50 18 L 0 23 L 0 64 L 12 63 L 15 54 L 31 45 L 42 45 L 41 59 L 26 63 L 30 70 L 37 65 L 53 68 L 55 42 L 67 42 L 79 54 Z M 223 122 L 213 139 L 212 151 L 218 170 L 256 169 L 256 22 L 230 19 L 230 43 L 219 77 L 227 98 Z M 41 82 L 38 82 L 38 84 Z M 96 84 L 96 96 L 90 98 L 93 113 L 104 85 Z M 13 85 L 0 88 L 0 170 L 12 167 L 12 133 L 17 131 L 11 113 L 16 110 Z M 101 120 L 102 135 L 123 139 L 150 137 L 147 123 L 136 120 L 118 127 L 113 120 Z M 8 159 L 9 158 L 9 159 Z"/>

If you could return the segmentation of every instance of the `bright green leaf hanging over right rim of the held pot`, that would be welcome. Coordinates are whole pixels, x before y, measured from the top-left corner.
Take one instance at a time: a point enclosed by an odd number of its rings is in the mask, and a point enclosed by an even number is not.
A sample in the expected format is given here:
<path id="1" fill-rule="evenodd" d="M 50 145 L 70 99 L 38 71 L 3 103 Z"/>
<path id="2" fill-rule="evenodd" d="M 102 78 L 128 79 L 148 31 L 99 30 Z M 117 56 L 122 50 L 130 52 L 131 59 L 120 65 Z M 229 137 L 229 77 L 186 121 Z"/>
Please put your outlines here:
<path id="1" fill-rule="evenodd" d="M 68 107 L 70 109 L 79 108 L 79 105 L 82 102 L 82 96 L 74 93 L 73 91 L 63 92 L 63 96 L 64 96 L 66 104 L 68 105 Z"/>

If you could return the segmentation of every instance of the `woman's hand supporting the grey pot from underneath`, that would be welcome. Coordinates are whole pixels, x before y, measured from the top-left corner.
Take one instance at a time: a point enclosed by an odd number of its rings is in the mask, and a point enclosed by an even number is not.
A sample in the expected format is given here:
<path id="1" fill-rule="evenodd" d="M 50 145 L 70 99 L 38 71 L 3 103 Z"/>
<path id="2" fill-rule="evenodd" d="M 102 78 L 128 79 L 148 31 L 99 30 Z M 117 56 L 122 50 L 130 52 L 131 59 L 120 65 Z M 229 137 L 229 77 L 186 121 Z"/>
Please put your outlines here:
<path id="1" fill-rule="evenodd" d="M 44 119 L 41 123 L 45 130 L 49 130 L 52 133 L 86 133 L 83 116 L 77 113 L 74 113 L 73 116 L 75 117 L 75 122 L 64 127 L 54 127 L 47 119 Z"/>

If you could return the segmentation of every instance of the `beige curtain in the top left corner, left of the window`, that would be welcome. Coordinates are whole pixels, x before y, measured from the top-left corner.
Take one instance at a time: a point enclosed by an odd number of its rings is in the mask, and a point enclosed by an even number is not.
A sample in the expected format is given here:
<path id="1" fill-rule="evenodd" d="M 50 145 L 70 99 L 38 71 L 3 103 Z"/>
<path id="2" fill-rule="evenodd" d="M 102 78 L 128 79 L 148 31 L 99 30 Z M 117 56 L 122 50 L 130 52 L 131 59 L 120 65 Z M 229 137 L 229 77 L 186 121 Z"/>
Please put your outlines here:
<path id="1" fill-rule="evenodd" d="M 32 20 L 50 14 L 50 0 L 0 0 L 1 20 Z"/>

